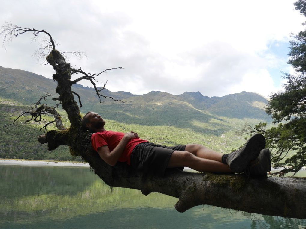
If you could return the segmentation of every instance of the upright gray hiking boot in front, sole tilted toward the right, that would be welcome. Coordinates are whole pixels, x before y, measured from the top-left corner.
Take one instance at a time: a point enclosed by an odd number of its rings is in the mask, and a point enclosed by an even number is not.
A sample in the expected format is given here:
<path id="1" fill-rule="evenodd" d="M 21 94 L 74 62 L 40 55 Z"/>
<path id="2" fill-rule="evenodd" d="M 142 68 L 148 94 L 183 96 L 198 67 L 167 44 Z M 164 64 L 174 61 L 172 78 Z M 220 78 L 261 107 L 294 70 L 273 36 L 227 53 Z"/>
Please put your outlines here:
<path id="1" fill-rule="evenodd" d="M 241 149 L 231 152 L 226 163 L 234 173 L 242 173 L 248 164 L 259 156 L 266 147 L 266 139 L 262 134 L 254 134 Z"/>

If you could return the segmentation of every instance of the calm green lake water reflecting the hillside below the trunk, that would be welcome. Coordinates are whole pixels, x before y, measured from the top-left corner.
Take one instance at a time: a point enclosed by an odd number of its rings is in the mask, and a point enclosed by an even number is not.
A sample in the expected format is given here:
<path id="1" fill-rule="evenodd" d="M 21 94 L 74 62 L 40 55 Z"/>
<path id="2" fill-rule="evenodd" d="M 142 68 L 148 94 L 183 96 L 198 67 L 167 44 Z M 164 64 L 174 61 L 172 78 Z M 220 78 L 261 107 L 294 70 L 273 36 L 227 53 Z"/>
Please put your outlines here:
<path id="1" fill-rule="evenodd" d="M 176 198 L 114 188 L 84 167 L 0 165 L 0 228 L 290 229 L 306 220 L 197 206 Z"/>

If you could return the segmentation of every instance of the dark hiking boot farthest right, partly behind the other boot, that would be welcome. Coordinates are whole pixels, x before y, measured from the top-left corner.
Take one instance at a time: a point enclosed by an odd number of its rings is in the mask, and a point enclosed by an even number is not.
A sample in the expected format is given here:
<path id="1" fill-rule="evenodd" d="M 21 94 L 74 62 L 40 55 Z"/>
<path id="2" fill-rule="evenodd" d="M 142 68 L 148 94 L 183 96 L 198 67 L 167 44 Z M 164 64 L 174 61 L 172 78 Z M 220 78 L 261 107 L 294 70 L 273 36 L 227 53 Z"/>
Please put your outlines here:
<path id="1" fill-rule="evenodd" d="M 271 155 L 269 149 L 260 151 L 259 156 L 250 162 L 245 173 L 248 175 L 266 176 L 271 171 Z"/>

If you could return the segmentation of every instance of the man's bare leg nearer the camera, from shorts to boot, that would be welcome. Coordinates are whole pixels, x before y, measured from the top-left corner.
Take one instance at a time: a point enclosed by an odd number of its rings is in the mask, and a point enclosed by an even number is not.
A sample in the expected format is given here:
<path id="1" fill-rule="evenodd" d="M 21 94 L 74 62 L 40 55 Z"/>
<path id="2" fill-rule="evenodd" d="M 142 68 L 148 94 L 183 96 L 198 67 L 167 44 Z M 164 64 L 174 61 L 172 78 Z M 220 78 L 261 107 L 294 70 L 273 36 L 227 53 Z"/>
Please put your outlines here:
<path id="1" fill-rule="evenodd" d="M 230 168 L 220 161 L 200 158 L 190 152 L 176 150 L 172 153 L 167 167 L 173 168 L 182 166 L 189 167 L 199 172 L 232 173 Z"/>

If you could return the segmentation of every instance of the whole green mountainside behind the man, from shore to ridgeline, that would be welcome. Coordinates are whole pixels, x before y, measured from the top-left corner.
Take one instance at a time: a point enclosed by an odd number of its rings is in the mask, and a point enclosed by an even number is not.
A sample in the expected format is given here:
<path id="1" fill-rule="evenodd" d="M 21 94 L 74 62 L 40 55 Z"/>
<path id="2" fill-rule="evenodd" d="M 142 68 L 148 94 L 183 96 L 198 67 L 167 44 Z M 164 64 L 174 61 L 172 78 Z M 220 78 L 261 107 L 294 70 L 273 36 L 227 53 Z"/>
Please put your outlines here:
<path id="1" fill-rule="evenodd" d="M 0 127 L 12 123 L 23 111 L 29 110 L 29 105 L 41 95 L 50 93 L 57 97 L 55 87 L 53 80 L 41 75 L 0 66 Z M 107 121 L 106 129 L 137 131 L 141 138 L 162 145 L 200 143 L 226 153 L 244 143 L 245 136 L 238 136 L 235 132 L 240 131 L 245 122 L 270 121 L 262 110 L 267 100 L 245 91 L 209 98 L 200 92 L 171 95 L 151 91 L 146 95 L 133 95 L 104 89 L 104 95 L 121 99 L 124 103 L 110 99 L 99 103 L 93 88 L 77 84 L 73 90 L 81 96 L 81 111 L 101 114 Z M 54 101 L 49 99 L 46 103 L 54 104 Z M 61 114 L 68 126 L 68 119 L 64 113 Z M 68 147 L 48 152 L 47 146 L 40 145 L 35 138 L 43 132 L 39 132 L 39 128 L 37 123 L 23 124 L 21 120 L 10 125 L 7 131 L 2 128 L 0 158 L 73 159 Z"/>

